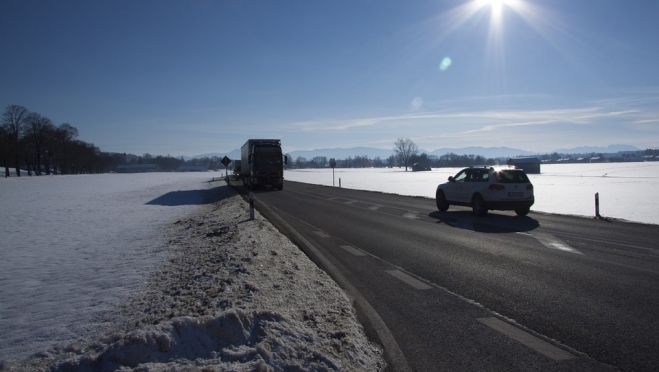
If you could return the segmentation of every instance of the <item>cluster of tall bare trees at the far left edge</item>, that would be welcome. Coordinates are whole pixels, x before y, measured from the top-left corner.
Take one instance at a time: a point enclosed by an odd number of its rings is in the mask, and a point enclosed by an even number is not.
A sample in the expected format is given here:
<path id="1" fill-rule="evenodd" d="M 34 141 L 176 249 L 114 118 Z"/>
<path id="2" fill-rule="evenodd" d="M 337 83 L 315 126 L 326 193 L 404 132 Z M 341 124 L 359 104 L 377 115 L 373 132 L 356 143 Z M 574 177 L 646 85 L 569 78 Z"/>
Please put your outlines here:
<path id="1" fill-rule="evenodd" d="M 103 156 L 93 144 L 76 139 L 78 130 L 68 123 L 55 125 L 20 105 L 9 105 L 0 126 L 0 161 L 9 177 L 21 169 L 28 175 L 96 173 L 103 169 Z"/>

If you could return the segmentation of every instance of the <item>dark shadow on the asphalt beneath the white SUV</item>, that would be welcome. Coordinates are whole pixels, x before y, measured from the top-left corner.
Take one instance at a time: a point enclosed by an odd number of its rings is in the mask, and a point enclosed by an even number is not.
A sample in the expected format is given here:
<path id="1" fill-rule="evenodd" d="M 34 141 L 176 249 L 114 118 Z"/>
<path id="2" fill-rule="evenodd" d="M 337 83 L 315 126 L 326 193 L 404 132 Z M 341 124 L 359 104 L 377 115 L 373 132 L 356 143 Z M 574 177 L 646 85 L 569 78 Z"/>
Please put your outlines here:
<path id="1" fill-rule="evenodd" d="M 490 234 L 526 232 L 540 227 L 540 223 L 529 216 L 520 217 L 491 212 L 485 217 L 477 217 L 471 211 L 435 211 L 428 214 L 428 217 L 451 227 Z"/>

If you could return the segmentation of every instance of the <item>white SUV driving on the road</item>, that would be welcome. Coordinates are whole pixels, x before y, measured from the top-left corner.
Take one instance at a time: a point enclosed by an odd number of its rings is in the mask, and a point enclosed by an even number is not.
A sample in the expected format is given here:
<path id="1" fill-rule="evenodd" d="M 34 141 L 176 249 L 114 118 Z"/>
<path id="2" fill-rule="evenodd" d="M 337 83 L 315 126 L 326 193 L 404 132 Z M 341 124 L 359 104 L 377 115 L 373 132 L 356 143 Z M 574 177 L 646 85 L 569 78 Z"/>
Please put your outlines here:
<path id="1" fill-rule="evenodd" d="M 461 170 L 437 186 L 435 199 L 442 212 L 451 204 L 464 205 L 471 206 L 477 216 L 494 209 L 514 210 L 518 216 L 526 216 L 535 201 L 533 184 L 523 170 L 492 167 Z"/>

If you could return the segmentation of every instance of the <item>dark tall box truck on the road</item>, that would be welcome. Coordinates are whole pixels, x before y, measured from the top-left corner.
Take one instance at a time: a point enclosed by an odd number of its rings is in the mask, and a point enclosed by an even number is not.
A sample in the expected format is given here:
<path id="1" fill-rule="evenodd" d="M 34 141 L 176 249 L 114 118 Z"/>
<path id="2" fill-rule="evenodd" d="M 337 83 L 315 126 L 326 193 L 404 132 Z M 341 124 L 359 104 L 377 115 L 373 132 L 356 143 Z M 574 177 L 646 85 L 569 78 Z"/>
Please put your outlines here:
<path id="1" fill-rule="evenodd" d="M 240 178 L 250 189 L 284 189 L 284 164 L 278 139 L 250 139 L 240 149 Z"/>

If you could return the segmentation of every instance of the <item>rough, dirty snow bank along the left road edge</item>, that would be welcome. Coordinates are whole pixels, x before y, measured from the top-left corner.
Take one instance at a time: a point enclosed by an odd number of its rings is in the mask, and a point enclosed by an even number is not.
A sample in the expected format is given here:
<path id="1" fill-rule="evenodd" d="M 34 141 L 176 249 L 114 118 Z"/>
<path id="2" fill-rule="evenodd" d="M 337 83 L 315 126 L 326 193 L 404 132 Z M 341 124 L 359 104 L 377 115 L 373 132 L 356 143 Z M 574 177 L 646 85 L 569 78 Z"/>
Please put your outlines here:
<path id="1" fill-rule="evenodd" d="M 378 371 L 345 293 L 228 187 L 167 227 L 169 251 L 112 329 L 4 370 Z"/>

